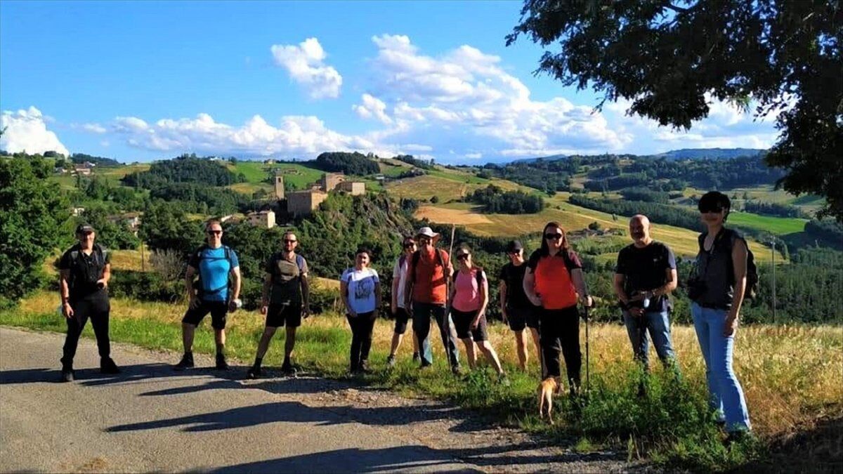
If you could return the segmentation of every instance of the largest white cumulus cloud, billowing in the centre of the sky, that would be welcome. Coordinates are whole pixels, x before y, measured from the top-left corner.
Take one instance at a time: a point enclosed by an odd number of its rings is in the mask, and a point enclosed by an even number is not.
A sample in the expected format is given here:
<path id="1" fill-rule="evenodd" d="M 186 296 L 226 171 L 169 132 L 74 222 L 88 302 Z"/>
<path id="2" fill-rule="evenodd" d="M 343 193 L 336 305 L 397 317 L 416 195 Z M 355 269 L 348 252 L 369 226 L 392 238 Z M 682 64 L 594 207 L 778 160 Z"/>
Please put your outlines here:
<path id="1" fill-rule="evenodd" d="M 500 57 L 473 46 L 432 57 L 405 35 L 372 40 L 379 51 L 368 95 L 385 105 L 379 110 L 392 121 L 378 135 L 384 142 L 430 143 L 439 154 L 456 148 L 456 158 L 477 159 L 602 153 L 631 141 L 590 106 L 561 98 L 532 100 L 524 83 L 502 68 Z M 355 110 L 373 116 L 364 108 Z"/>

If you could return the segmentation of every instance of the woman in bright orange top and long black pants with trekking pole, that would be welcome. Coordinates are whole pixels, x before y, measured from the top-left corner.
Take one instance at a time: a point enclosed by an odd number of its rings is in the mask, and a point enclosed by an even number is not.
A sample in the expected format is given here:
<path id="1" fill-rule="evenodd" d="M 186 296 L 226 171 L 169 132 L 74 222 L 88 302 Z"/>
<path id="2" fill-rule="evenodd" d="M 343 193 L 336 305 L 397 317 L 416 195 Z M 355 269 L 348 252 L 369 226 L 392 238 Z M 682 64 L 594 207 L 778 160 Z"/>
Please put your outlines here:
<path id="1" fill-rule="evenodd" d="M 570 249 L 565 230 L 556 222 L 545 225 L 541 248 L 527 261 L 524 293 L 540 307 L 540 342 L 546 376 L 559 380 L 561 352 L 571 392 L 576 393 L 582 366 L 577 299 L 585 306 L 591 306 L 592 301 L 583 279 L 583 265 Z"/>

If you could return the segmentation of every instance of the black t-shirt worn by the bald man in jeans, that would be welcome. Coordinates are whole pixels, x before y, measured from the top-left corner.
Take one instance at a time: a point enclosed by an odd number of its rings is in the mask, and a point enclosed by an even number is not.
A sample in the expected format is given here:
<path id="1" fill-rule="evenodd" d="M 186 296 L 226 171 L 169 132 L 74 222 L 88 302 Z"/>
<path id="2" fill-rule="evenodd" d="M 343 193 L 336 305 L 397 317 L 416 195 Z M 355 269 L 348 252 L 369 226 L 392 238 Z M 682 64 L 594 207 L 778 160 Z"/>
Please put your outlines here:
<path id="1" fill-rule="evenodd" d="M 650 245 L 639 249 L 630 244 L 620 250 L 615 273 L 623 275 L 624 291 L 627 297 L 637 291 L 649 291 L 667 283 L 667 270 L 676 269 L 676 257 L 673 250 L 661 242 L 652 241 Z M 642 307 L 642 301 L 631 301 L 631 307 Z M 663 311 L 668 309 L 668 297 L 660 296 L 650 300 L 647 310 Z"/>

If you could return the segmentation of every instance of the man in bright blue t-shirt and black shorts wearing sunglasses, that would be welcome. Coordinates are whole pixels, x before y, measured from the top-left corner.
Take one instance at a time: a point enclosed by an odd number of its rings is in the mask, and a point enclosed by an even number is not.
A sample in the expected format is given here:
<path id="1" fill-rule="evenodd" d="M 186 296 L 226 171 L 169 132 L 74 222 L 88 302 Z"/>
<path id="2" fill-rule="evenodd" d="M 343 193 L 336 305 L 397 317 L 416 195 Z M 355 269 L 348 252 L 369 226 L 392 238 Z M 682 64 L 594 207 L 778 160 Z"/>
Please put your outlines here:
<path id="1" fill-rule="evenodd" d="M 217 369 L 228 370 L 225 361 L 225 316 L 237 310 L 240 296 L 240 264 L 234 250 L 223 245 L 223 226 L 212 220 L 205 227 L 207 245 L 191 255 L 187 262 L 185 288 L 190 304 L 185 318 L 181 320 L 181 337 L 185 344 L 185 355 L 176 370 L 193 367 L 193 333 L 201 320 L 211 313 L 211 326 L 217 342 Z M 199 275 L 196 287 L 193 277 Z M 229 291 L 228 278 L 231 277 Z"/>

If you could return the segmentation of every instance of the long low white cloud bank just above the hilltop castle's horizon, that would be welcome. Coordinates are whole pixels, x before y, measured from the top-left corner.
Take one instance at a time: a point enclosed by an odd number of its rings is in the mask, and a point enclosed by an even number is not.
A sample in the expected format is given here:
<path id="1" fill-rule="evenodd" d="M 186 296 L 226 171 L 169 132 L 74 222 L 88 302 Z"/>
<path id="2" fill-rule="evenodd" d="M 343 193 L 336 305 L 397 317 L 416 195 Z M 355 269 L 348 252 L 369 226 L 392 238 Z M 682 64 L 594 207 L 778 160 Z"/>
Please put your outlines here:
<path id="1" fill-rule="evenodd" d="M 137 117 L 117 117 L 112 130 L 136 148 L 180 153 L 245 154 L 311 158 L 334 150 L 375 150 L 364 137 L 343 135 L 314 116 L 284 116 L 272 125 L 255 115 L 240 126 L 217 122 L 208 114 L 195 118 L 161 119 L 147 123 Z"/>

